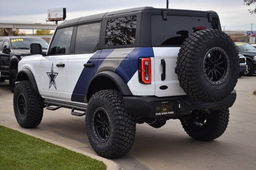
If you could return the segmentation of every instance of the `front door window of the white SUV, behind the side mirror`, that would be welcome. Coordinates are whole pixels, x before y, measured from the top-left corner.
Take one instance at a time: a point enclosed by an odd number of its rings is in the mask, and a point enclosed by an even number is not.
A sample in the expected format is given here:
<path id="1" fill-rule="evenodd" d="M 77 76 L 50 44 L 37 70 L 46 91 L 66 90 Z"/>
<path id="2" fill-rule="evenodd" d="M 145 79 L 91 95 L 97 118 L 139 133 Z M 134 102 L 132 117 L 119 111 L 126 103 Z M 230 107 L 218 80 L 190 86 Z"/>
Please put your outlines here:
<path id="1" fill-rule="evenodd" d="M 50 54 L 68 54 L 72 33 L 73 27 L 57 29 L 50 46 Z"/>

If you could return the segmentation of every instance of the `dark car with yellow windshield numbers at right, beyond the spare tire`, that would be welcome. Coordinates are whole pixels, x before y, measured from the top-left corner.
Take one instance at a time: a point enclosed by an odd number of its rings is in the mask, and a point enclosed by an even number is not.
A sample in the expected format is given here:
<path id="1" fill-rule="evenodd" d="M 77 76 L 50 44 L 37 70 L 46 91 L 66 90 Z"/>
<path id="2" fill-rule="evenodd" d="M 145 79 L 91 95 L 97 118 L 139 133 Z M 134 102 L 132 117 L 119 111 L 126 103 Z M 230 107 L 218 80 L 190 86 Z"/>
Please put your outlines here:
<path id="1" fill-rule="evenodd" d="M 252 76 L 256 70 L 256 49 L 248 43 L 236 42 L 235 44 L 239 53 L 246 57 L 247 70 L 244 76 Z"/>

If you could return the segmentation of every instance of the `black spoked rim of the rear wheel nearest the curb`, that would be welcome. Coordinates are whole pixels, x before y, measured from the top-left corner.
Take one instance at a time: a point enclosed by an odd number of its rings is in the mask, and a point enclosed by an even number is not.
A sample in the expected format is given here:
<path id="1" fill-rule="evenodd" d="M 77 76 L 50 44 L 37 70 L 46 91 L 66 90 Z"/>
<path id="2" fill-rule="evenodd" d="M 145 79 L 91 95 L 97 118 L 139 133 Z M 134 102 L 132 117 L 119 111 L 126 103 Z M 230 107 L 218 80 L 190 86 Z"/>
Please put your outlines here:
<path id="1" fill-rule="evenodd" d="M 107 111 L 98 107 L 94 111 L 94 133 L 100 139 L 101 142 L 106 142 L 110 136 L 110 119 Z"/>

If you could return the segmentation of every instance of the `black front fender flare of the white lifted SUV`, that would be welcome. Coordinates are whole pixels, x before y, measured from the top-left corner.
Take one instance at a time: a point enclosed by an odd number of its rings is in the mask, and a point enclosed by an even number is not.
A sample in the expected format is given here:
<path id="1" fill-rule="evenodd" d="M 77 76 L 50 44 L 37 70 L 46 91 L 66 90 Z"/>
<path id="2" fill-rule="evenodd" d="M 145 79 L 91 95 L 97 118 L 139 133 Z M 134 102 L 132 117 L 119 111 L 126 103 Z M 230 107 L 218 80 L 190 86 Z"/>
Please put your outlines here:
<path id="1" fill-rule="evenodd" d="M 33 73 L 28 68 L 24 68 L 24 69 L 20 70 L 17 74 L 16 82 L 20 82 L 20 81 L 24 81 L 24 80 L 29 80 L 33 87 L 33 90 L 38 95 L 40 95 L 40 93 L 38 91 L 37 84 L 36 84 L 36 79 L 35 79 Z"/>

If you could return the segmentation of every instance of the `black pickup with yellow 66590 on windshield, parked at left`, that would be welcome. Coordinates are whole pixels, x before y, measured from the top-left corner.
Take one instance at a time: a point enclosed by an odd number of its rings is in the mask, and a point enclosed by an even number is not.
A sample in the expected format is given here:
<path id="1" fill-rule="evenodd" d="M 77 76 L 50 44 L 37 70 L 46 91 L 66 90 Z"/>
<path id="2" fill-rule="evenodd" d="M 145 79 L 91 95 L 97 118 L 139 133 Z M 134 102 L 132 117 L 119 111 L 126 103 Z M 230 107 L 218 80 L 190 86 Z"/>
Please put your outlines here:
<path id="1" fill-rule="evenodd" d="M 18 74 L 18 63 L 22 57 L 32 55 L 30 44 L 39 43 L 46 52 L 48 43 L 40 37 L 0 37 L 0 81 L 9 80 L 10 90 L 14 92 Z"/>

